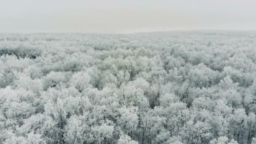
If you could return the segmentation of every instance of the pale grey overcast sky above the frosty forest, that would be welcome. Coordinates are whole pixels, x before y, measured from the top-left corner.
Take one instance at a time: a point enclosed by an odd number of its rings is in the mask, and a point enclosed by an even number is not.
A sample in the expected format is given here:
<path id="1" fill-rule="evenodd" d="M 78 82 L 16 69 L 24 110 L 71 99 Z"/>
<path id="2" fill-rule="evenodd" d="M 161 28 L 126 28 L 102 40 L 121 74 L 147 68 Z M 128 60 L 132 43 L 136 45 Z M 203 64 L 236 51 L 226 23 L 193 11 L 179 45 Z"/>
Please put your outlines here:
<path id="1" fill-rule="evenodd" d="M 256 30 L 256 0 L 0 0 L 0 32 Z"/>

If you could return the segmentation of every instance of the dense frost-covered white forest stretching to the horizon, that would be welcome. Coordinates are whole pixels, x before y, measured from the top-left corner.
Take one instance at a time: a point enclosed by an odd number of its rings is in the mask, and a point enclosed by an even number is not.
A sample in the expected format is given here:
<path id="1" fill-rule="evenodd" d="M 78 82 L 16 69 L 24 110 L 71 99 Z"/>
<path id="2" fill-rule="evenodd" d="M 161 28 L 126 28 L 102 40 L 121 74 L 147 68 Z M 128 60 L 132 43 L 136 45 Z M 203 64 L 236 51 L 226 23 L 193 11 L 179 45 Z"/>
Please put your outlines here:
<path id="1" fill-rule="evenodd" d="M 256 33 L 0 34 L 0 144 L 256 144 Z"/>

